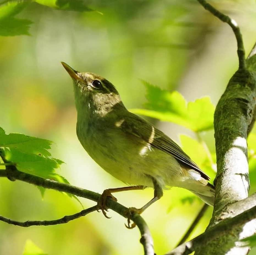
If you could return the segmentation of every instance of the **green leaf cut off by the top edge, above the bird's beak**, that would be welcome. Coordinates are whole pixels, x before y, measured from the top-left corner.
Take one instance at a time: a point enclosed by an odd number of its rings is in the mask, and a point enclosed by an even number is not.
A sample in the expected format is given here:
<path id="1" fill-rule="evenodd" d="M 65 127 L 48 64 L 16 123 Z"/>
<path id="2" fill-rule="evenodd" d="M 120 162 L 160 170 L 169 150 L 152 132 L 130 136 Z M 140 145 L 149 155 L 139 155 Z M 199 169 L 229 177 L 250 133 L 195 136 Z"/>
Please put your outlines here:
<path id="1" fill-rule="evenodd" d="M 35 0 L 38 4 L 46 5 L 48 7 L 58 10 L 68 10 L 77 12 L 93 11 L 82 0 Z"/>

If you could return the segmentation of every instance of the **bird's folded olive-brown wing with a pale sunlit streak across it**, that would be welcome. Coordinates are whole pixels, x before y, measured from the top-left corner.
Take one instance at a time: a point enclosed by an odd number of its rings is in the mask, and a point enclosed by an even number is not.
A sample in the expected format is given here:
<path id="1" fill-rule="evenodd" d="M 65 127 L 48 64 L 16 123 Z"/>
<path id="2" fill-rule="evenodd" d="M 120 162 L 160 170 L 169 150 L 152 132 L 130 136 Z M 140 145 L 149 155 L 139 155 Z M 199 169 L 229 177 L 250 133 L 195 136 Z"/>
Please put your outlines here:
<path id="1" fill-rule="evenodd" d="M 129 112 L 128 116 L 124 118 L 120 128 L 123 129 L 125 133 L 140 137 L 152 147 L 169 153 L 182 165 L 196 170 L 203 178 L 210 180 L 209 176 L 200 170 L 196 163 L 190 159 L 180 146 L 143 118 Z"/>

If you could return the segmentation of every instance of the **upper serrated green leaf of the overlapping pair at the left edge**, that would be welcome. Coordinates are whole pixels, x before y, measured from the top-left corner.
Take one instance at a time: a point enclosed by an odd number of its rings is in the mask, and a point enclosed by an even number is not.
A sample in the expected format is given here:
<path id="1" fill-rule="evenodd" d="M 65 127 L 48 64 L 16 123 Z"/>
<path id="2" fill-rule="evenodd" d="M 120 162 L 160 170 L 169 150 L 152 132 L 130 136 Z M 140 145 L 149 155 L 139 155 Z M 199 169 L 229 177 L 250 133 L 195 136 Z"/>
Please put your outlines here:
<path id="1" fill-rule="evenodd" d="M 23 153 L 35 153 L 42 156 L 51 156 L 49 149 L 51 149 L 50 140 L 28 136 L 24 134 L 11 133 L 5 134 L 4 129 L 0 128 L 0 147 L 8 147 L 10 149 L 19 149 Z M 58 164 L 63 163 L 61 160 L 54 159 Z"/>

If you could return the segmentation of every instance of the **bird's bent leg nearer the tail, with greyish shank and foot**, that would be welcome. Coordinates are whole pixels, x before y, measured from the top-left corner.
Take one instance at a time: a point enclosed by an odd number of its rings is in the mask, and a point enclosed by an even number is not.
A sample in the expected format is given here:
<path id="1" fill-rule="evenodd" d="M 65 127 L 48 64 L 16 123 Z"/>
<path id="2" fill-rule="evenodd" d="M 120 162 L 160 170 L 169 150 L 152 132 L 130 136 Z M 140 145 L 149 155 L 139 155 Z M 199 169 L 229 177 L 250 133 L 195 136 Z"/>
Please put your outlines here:
<path id="1" fill-rule="evenodd" d="M 131 220 L 130 220 L 130 216 L 134 213 L 137 213 L 137 214 L 141 214 L 142 212 L 144 212 L 150 205 L 152 205 L 153 203 L 155 203 L 158 199 L 160 199 L 162 196 L 163 196 L 163 189 L 162 187 L 158 184 L 158 182 L 156 181 L 155 178 L 153 178 L 152 176 L 150 176 L 152 178 L 152 181 L 153 181 L 153 185 L 154 185 L 154 197 L 147 203 L 145 204 L 144 206 L 142 206 L 141 208 L 137 209 L 135 207 L 130 207 L 128 209 L 128 226 L 125 224 L 126 228 L 128 229 L 132 229 L 136 226 L 135 223 L 131 223 Z"/>

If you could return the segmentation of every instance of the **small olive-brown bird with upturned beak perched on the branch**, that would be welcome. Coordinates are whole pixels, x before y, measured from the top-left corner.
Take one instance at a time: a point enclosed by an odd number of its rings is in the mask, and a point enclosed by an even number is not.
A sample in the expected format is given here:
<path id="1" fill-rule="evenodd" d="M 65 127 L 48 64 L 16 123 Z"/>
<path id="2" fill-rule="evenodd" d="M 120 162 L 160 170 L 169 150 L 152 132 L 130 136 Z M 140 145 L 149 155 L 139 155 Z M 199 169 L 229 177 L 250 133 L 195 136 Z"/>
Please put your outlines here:
<path id="1" fill-rule="evenodd" d="M 73 80 L 76 134 L 86 152 L 125 187 L 106 189 L 98 209 L 106 215 L 106 198 L 114 192 L 154 189 L 153 198 L 133 212 L 141 214 L 163 196 L 163 190 L 190 190 L 210 206 L 215 189 L 205 174 L 171 138 L 144 118 L 129 112 L 115 86 L 104 77 L 78 72 L 61 62 Z"/>

